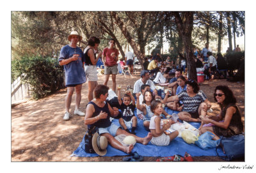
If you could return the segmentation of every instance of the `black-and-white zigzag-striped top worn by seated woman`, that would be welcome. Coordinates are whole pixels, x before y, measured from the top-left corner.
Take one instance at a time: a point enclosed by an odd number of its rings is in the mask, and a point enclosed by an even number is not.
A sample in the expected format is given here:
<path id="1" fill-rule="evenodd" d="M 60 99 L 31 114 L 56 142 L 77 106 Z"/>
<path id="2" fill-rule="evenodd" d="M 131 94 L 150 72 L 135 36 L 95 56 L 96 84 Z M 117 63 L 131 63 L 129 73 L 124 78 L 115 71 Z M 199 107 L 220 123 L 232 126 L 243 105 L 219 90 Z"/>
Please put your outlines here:
<path id="1" fill-rule="evenodd" d="M 183 90 L 178 94 L 178 98 L 184 104 L 182 109 L 184 112 L 196 112 L 196 109 L 198 109 L 200 104 L 207 99 L 202 90 L 198 91 L 198 93 L 193 97 L 190 97 L 187 91 Z"/>

